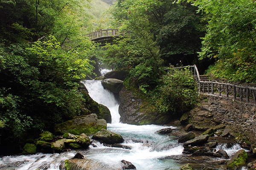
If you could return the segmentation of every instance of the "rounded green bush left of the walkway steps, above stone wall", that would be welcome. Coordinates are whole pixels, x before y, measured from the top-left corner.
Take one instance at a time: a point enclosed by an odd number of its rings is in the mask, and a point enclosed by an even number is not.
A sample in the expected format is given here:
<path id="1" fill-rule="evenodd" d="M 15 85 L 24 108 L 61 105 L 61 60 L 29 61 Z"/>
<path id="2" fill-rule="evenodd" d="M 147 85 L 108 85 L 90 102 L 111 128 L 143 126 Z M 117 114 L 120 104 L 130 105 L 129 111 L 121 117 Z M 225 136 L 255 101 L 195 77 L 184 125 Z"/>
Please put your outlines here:
<path id="1" fill-rule="evenodd" d="M 167 74 L 161 76 L 158 87 L 148 93 L 148 99 L 157 105 L 160 112 L 184 112 L 193 108 L 198 94 L 189 69 L 170 68 Z"/>

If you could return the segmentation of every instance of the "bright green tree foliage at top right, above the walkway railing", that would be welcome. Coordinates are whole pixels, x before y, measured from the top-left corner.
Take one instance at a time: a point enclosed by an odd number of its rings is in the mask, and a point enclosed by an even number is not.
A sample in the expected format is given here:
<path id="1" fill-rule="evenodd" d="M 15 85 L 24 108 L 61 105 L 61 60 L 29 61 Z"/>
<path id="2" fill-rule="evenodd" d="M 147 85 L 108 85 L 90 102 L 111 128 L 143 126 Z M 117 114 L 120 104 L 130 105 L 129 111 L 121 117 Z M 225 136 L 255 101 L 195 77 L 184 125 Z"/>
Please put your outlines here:
<path id="1" fill-rule="evenodd" d="M 217 60 L 210 73 L 231 81 L 255 82 L 256 4 L 254 1 L 190 0 L 209 15 L 201 58 Z"/>

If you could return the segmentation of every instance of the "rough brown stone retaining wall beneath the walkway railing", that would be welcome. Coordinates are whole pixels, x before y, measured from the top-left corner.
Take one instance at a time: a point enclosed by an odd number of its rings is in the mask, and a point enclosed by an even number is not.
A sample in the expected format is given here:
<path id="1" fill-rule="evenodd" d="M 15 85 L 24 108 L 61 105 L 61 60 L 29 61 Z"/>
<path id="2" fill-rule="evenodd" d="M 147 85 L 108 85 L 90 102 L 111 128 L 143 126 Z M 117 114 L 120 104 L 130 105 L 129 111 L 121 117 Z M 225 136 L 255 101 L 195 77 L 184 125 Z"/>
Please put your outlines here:
<path id="1" fill-rule="evenodd" d="M 201 94 L 201 102 L 190 111 L 195 130 L 225 125 L 223 135 L 232 135 L 247 142 L 256 142 L 256 105 L 224 96 Z"/>

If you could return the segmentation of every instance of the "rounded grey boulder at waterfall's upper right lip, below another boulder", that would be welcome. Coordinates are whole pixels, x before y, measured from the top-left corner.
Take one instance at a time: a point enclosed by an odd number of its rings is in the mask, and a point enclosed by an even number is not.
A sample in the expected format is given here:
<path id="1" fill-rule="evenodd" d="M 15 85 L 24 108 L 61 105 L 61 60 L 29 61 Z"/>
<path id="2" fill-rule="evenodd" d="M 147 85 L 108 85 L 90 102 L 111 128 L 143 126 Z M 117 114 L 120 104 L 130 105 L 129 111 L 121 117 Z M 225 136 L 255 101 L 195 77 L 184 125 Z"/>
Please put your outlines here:
<path id="1" fill-rule="evenodd" d="M 123 81 L 119 79 L 102 80 L 102 86 L 113 93 L 119 93 L 123 87 Z"/>

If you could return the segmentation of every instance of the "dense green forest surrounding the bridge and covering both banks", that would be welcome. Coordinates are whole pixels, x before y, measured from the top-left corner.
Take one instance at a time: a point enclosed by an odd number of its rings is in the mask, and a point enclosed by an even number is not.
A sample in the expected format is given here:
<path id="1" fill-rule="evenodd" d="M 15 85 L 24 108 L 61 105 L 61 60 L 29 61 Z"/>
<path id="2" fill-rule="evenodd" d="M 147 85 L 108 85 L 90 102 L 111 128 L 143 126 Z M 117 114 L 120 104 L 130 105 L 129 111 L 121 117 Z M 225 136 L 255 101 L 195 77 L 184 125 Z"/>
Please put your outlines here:
<path id="1" fill-rule="evenodd" d="M 166 67 L 196 64 L 201 73 L 256 82 L 255 1 L 89 1 L 0 1 L 1 144 L 83 114 L 77 89 L 93 74 L 92 57 L 127 71 L 125 86 L 159 112 L 187 111 L 197 98 L 189 71 Z M 99 28 L 131 36 L 96 53 L 84 35 Z"/>

